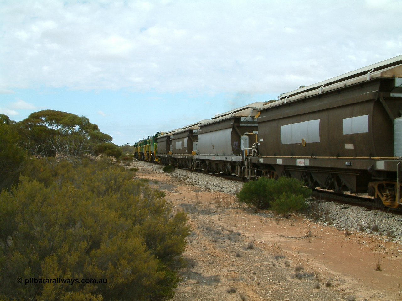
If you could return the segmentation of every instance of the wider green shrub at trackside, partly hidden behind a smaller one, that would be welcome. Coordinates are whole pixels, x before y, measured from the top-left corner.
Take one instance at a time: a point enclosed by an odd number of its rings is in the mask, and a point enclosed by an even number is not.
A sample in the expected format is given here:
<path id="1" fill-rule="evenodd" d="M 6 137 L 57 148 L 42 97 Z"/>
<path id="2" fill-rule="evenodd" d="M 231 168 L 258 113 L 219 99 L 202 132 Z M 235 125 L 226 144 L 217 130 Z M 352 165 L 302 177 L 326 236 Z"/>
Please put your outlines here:
<path id="1" fill-rule="evenodd" d="M 268 209 L 282 194 L 302 195 L 307 198 L 311 190 L 304 183 L 293 178 L 280 177 L 278 180 L 262 177 L 256 181 L 244 183 L 237 194 L 238 200 L 258 209 Z"/>

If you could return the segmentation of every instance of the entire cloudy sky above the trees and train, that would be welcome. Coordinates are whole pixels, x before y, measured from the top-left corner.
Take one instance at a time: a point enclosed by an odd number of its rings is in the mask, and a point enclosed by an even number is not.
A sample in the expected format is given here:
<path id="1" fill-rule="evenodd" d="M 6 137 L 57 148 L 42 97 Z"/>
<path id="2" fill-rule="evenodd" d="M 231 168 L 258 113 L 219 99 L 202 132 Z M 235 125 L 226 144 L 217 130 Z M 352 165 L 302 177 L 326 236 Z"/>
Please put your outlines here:
<path id="1" fill-rule="evenodd" d="M 118 145 L 402 54 L 402 0 L 0 0 L 0 114 Z"/>

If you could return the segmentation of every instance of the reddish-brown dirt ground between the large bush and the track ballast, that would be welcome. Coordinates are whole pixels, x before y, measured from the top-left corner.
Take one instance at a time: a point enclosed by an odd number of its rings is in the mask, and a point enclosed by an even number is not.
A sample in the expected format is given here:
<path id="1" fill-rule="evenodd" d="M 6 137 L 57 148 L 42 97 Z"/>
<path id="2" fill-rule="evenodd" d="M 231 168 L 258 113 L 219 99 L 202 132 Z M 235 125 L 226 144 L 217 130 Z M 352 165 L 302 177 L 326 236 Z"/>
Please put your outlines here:
<path id="1" fill-rule="evenodd" d="M 167 173 L 136 174 L 189 213 L 193 231 L 175 301 L 402 300 L 401 244 L 361 232 L 346 236 L 301 215 L 254 212 L 234 195 Z"/>

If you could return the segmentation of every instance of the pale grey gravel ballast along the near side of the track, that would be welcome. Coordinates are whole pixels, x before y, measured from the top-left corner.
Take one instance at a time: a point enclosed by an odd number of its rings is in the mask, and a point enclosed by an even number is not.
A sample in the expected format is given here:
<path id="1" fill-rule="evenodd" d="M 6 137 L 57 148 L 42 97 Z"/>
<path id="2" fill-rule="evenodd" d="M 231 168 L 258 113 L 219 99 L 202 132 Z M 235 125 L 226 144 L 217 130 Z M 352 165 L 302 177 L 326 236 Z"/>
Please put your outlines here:
<path id="1" fill-rule="evenodd" d="M 134 161 L 132 166 L 140 170 L 164 173 L 162 165 Z M 242 182 L 232 181 L 183 169 L 175 169 L 171 176 L 187 184 L 197 185 L 202 189 L 216 190 L 228 194 L 236 194 L 243 187 Z M 348 229 L 352 232 L 364 232 L 368 236 L 380 236 L 386 241 L 402 241 L 402 216 L 379 210 L 367 210 L 359 206 L 343 205 L 335 202 L 311 201 L 319 218 L 318 222 L 325 226 Z"/>

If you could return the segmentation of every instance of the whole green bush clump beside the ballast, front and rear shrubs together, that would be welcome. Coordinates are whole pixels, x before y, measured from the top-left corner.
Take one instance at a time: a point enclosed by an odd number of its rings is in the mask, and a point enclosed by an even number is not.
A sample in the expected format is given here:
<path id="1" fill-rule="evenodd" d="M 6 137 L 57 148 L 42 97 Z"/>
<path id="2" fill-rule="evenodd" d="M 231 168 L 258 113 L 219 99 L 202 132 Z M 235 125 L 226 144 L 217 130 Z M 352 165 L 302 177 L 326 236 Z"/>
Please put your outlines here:
<path id="1" fill-rule="evenodd" d="M 260 178 L 243 185 L 237 194 L 238 200 L 258 209 L 275 207 L 278 213 L 286 214 L 286 210 L 303 209 L 304 199 L 311 195 L 311 190 L 304 183 L 293 178 L 280 177 L 278 180 Z"/>

